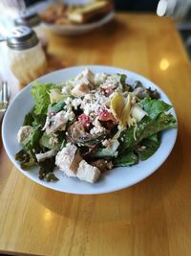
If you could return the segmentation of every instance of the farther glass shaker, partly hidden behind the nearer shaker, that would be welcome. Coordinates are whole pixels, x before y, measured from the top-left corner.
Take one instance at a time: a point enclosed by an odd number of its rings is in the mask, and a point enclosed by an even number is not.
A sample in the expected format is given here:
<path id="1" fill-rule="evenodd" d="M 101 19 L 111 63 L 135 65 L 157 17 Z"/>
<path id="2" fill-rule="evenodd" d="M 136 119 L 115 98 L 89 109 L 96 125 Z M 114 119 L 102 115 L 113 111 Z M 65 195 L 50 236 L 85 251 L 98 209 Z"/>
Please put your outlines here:
<path id="1" fill-rule="evenodd" d="M 48 39 L 43 27 L 41 26 L 41 19 L 35 12 L 25 11 L 14 19 L 15 26 L 27 26 L 32 28 L 39 38 L 42 48 L 46 51 L 48 46 Z"/>

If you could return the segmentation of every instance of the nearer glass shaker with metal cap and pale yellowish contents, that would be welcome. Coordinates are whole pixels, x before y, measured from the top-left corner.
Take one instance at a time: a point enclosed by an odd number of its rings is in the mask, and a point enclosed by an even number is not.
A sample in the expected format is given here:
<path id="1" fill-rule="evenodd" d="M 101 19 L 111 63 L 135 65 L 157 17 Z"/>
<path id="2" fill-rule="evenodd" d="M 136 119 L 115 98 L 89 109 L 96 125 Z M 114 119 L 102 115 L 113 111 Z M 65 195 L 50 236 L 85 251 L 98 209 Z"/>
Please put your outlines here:
<path id="1" fill-rule="evenodd" d="M 11 71 L 22 85 L 45 74 L 47 61 L 36 34 L 29 27 L 15 27 L 7 37 Z"/>

